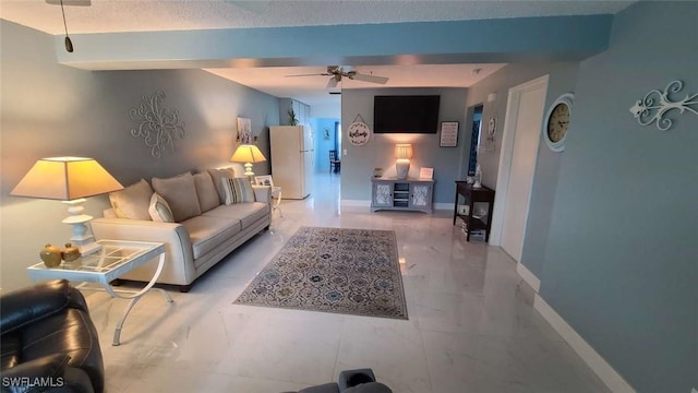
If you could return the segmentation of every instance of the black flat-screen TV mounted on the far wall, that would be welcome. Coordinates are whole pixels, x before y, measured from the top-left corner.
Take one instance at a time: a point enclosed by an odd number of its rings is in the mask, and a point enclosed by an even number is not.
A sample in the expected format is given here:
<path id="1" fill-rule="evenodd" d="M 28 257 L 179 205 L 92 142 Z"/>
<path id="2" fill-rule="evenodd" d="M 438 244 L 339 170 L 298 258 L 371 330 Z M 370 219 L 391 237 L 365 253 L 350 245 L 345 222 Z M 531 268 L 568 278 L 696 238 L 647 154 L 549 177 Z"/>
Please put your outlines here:
<path id="1" fill-rule="evenodd" d="M 436 133 L 437 95 L 374 96 L 374 133 Z"/>

